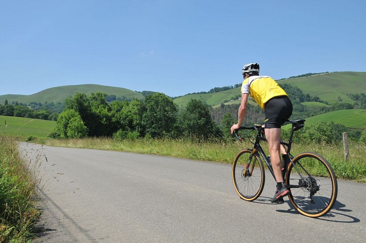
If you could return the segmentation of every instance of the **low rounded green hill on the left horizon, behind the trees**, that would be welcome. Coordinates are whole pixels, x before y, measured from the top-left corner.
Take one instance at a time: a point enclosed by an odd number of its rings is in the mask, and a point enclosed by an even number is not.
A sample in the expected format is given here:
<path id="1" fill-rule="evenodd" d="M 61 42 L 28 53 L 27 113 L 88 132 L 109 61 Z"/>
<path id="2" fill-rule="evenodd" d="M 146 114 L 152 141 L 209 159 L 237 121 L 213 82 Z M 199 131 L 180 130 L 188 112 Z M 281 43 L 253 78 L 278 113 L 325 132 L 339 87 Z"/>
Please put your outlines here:
<path id="1" fill-rule="evenodd" d="M 9 103 L 17 101 L 23 104 L 29 104 L 31 102 L 42 104 L 45 102 L 65 102 L 67 97 L 70 95 L 74 96 L 77 92 L 85 94 L 102 92 L 107 95 L 116 95 L 117 98 L 126 97 L 127 99 L 144 98 L 142 94 L 126 88 L 102 85 L 69 85 L 48 88 L 32 95 L 0 95 L 0 104 L 4 104 L 5 100 L 8 100 Z"/>

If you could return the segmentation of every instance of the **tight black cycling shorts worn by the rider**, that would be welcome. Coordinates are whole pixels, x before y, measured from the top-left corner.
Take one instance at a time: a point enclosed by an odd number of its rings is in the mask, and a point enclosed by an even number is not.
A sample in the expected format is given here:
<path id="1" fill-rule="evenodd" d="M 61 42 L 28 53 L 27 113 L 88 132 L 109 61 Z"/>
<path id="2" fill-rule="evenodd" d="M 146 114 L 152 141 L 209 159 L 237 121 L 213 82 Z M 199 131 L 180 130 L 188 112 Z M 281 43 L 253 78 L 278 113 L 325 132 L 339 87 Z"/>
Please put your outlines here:
<path id="1" fill-rule="evenodd" d="M 287 96 L 278 96 L 265 104 L 265 128 L 281 128 L 292 114 L 292 103 Z"/>

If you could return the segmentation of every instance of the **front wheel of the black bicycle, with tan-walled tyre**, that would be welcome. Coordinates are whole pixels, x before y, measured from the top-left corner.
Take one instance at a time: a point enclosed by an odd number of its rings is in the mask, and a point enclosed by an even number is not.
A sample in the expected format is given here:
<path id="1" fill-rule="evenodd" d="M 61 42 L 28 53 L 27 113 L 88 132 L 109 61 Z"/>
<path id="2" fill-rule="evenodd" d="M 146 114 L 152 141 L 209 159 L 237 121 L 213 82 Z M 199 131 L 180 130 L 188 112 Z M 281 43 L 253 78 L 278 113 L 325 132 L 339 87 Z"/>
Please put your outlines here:
<path id="1" fill-rule="evenodd" d="M 235 191 L 241 199 L 254 201 L 257 199 L 265 186 L 265 171 L 258 154 L 252 156 L 251 149 L 240 151 L 233 162 L 233 184 Z"/>

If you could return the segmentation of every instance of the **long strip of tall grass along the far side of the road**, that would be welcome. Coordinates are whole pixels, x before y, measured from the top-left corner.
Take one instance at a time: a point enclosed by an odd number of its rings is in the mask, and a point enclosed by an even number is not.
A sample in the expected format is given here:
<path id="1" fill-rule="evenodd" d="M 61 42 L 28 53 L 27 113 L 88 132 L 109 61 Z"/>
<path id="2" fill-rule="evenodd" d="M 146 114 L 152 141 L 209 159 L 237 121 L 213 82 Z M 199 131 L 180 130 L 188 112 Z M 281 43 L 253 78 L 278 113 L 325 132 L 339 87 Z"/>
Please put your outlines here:
<path id="1" fill-rule="evenodd" d="M 49 139 L 43 142 L 56 147 L 113 150 L 227 164 L 233 163 L 235 155 L 241 149 L 252 147 L 248 141 L 233 142 L 231 140 L 225 142 L 192 142 L 189 139 L 124 139 L 118 141 L 110 138 L 88 138 Z M 292 155 L 301 152 L 318 153 L 331 163 L 338 178 L 366 183 L 366 147 L 364 145 L 350 144 L 348 162 L 344 161 L 342 145 L 298 144 L 295 142 L 291 150 Z"/>

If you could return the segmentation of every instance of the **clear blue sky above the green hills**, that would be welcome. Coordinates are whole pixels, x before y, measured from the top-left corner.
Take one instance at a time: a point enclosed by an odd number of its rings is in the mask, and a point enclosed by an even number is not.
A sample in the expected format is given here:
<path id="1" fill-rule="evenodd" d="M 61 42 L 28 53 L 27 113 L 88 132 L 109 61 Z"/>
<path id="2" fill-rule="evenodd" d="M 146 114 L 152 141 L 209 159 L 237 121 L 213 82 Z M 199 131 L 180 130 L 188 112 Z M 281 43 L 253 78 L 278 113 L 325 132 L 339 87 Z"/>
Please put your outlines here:
<path id="1" fill-rule="evenodd" d="M 366 71 L 365 0 L 0 0 L 0 95 L 99 84 L 168 96 Z"/>

